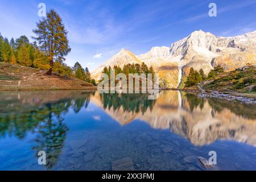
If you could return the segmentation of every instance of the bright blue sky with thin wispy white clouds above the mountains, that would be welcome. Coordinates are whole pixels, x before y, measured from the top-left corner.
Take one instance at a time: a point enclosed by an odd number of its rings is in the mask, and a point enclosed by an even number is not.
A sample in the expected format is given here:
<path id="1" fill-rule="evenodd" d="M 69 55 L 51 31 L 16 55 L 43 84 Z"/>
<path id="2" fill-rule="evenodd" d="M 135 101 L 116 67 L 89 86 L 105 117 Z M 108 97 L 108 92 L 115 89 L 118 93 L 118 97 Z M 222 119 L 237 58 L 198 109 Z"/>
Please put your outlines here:
<path id="1" fill-rule="evenodd" d="M 66 63 L 79 61 L 90 71 L 122 48 L 138 55 L 154 46 L 169 47 L 195 30 L 217 36 L 256 30 L 256 0 L 1 0 L 1 34 L 33 36 L 41 2 L 60 14 L 69 32 L 72 51 Z M 217 17 L 208 16 L 211 2 Z"/>

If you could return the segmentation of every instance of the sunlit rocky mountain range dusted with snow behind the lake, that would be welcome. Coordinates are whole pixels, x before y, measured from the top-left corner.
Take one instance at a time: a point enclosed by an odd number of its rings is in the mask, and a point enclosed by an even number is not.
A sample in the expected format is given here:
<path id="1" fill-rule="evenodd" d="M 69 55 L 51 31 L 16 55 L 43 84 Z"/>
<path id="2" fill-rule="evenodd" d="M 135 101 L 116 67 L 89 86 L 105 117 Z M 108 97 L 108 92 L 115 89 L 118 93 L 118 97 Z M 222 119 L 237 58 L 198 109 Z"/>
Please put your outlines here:
<path id="1" fill-rule="evenodd" d="M 172 43 L 170 47 L 152 47 L 150 51 L 135 56 L 122 49 L 104 65 L 93 71 L 92 77 L 100 76 L 104 67 L 123 67 L 129 63 L 144 62 L 154 67 L 168 86 L 179 86 L 181 76 L 188 74 L 191 67 L 208 73 L 214 65 L 221 64 L 226 71 L 242 67 L 247 63 L 256 64 L 256 31 L 234 37 L 215 36 L 202 30 Z"/>

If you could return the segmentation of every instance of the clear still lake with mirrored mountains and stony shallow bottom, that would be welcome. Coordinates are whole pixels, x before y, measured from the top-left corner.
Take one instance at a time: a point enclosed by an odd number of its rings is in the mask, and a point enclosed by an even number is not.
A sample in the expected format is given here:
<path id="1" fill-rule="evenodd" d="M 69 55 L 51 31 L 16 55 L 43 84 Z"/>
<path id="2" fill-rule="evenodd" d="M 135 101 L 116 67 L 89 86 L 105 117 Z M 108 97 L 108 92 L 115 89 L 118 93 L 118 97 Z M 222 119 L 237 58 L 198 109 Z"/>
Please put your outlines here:
<path id="1" fill-rule="evenodd" d="M 163 91 L 1 92 L 0 170 L 256 170 L 255 105 Z M 38 164 L 46 151 L 47 165 Z M 198 156 L 217 152 L 217 166 Z M 120 161 L 121 160 L 121 161 Z"/>

